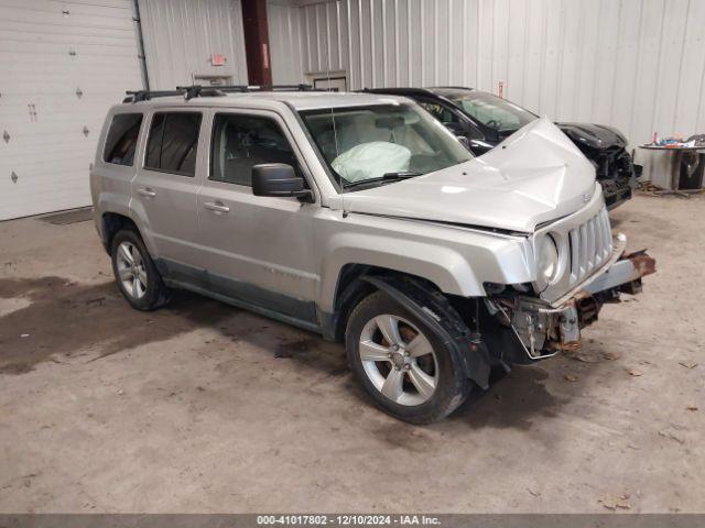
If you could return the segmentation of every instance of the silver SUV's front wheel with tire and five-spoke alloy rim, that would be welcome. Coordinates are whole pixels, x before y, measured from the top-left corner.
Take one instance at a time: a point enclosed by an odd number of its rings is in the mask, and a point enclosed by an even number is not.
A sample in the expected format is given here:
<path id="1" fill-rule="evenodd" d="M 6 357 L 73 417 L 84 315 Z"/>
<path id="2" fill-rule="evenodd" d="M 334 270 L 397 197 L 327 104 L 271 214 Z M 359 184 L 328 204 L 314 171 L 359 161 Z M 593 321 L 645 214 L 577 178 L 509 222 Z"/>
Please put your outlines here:
<path id="1" fill-rule="evenodd" d="M 431 424 L 455 410 L 470 383 L 438 337 L 382 292 L 355 307 L 346 329 L 350 369 L 386 413 Z"/>

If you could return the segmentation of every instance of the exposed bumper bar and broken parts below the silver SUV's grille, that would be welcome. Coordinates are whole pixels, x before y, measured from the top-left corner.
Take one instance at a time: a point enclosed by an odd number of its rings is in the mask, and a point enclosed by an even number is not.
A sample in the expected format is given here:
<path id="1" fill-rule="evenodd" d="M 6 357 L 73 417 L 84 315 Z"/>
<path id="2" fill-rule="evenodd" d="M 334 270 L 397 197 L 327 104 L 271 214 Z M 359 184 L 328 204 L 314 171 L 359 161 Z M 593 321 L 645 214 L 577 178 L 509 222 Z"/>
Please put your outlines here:
<path id="1" fill-rule="evenodd" d="M 582 346 L 581 330 L 597 320 L 605 302 L 620 293 L 638 294 L 641 279 L 655 272 L 655 261 L 646 251 L 625 253 L 626 239 L 616 241 L 614 257 L 588 280 L 552 305 L 535 297 L 488 300 L 491 312 L 511 327 L 530 360 L 542 360 Z"/>

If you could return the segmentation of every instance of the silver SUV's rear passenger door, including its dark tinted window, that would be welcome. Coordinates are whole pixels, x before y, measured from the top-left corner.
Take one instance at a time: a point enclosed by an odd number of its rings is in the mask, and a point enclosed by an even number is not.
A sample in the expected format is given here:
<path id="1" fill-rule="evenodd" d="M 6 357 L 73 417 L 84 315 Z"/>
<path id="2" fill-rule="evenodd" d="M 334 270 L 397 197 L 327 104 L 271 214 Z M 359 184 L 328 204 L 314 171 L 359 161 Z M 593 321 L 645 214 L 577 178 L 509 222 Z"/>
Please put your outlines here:
<path id="1" fill-rule="evenodd" d="M 142 163 L 132 183 L 131 207 L 151 242 L 153 256 L 169 264 L 197 261 L 197 170 L 203 112 L 158 110 L 149 117 Z"/>

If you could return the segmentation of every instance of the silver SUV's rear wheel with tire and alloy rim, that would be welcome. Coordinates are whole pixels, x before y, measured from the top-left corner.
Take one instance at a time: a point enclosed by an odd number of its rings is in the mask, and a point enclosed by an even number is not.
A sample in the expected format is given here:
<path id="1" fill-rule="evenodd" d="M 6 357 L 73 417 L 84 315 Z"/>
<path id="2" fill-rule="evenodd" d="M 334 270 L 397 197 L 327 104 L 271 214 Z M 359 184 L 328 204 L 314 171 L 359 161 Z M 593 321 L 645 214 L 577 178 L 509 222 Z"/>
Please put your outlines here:
<path id="1" fill-rule="evenodd" d="M 132 308 L 149 311 L 169 302 L 171 292 L 135 231 L 118 231 L 110 244 L 110 256 L 115 279 Z"/>

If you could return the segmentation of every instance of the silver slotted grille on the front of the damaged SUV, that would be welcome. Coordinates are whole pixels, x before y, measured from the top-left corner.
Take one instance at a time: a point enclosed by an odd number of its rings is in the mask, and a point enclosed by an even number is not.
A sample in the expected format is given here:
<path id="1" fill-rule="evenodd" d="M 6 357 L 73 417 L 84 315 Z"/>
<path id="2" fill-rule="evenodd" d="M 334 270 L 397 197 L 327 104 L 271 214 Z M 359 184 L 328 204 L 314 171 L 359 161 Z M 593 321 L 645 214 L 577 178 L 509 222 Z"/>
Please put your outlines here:
<path id="1" fill-rule="evenodd" d="M 603 207 L 597 215 L 585 223 L 568 231 L 571 250 L 571 286 L 589 277 L 601 266 L 612 252 L 612 234 Z"/>

